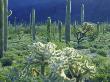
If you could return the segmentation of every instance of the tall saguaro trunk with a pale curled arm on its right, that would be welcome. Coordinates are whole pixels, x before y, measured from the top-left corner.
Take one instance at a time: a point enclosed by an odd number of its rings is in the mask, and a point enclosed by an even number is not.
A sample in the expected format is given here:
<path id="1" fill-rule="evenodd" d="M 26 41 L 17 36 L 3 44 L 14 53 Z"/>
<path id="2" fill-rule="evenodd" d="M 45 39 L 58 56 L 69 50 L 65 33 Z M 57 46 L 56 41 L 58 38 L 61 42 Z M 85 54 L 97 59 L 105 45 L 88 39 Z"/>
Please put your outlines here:
<path id="1" fill-rule="evenodd" d="M 8 42 L 8 0 L 4 0 L 4 51 L 7 50 Z"/>

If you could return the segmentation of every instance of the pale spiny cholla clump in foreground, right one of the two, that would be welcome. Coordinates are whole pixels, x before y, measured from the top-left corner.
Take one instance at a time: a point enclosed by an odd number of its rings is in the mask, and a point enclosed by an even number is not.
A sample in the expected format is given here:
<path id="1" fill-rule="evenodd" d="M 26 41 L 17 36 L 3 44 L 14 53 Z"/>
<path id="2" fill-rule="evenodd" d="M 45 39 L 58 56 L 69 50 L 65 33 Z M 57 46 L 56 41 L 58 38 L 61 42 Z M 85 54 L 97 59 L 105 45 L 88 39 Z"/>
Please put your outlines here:
<path id="1" fill-rule="evenodd" d="M 88 74 L 89 78 L 96 72 L 95 66 L 74 48 L 67 47 L 62 50 L 56 50 L 49 62 L 52 70 L 57 71 L 68 80 L 75 79 L 76 82 L 80 82 Z"/>

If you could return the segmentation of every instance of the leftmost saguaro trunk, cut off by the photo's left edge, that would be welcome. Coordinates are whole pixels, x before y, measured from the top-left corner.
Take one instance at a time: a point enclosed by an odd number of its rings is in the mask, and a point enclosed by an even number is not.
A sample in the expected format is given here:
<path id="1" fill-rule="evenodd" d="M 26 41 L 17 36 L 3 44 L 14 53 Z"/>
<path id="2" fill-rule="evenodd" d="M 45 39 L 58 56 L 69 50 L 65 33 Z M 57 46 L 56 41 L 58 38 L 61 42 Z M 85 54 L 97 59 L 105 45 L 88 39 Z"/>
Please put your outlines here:
<path id="1" fill-rule="evenodd" d="M 0 0 L 0 58 L 3 57 L 4 0 Z"/>

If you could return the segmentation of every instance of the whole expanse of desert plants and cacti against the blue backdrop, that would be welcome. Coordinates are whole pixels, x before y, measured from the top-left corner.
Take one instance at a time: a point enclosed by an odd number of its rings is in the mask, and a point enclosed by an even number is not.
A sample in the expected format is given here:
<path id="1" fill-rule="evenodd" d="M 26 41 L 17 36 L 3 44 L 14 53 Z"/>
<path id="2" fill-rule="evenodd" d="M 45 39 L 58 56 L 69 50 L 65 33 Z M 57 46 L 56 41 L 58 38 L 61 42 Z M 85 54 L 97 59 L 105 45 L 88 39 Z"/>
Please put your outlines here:
<path id="1" fill-rule="evenodd" d="M 37 24 L 33 8 L 29 24 L 11 24 L 0 0 L 0 82 L 110 82 L 110 24 L 86 22 L 84 4 L 72 23 L 66 1 L 65 23 Z"/>

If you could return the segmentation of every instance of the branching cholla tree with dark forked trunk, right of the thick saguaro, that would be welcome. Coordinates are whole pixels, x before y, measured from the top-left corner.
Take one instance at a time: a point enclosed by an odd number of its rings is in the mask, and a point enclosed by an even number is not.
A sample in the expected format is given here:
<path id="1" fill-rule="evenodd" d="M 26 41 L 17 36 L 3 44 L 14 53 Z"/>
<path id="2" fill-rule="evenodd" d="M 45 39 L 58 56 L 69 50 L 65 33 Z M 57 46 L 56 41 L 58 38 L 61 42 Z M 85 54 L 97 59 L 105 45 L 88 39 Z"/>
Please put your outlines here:
<path id="1" fill-rule="evenodd" d="M 84 40 L 93 41 L 96 38 L 96 30 L 92 24 L 84 23 L 82 27 L 73 28 L 74 37 L 77 40 L 78 47 Z"/>

